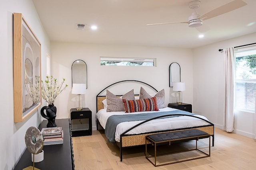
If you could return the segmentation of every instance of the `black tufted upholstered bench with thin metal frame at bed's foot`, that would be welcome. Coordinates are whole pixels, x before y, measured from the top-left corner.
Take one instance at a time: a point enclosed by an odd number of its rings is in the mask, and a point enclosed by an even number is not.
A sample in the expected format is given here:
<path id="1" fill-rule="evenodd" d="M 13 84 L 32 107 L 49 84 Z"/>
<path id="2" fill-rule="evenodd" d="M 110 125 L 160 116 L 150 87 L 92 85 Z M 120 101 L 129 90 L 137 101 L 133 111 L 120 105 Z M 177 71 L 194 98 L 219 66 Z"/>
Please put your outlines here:
<path id="1" fill-rule="evenodd" d="M 197 147 L 197 141 L 199 139 L 202 138 L 209 138 L 209 154 L 203 152 L 202 150 L 199 150 Z M 196 150 L 199 152 L 203 153 L 203 156 L 197 156 L 194 158 L 187 158 L 187 159 L 182 159 L 182 160 L 176 160 L 176 161 L 172 161 L 172 162 L 168 162 L 168 163 L 163 163 L 163 164 L 156 164 L 156 157 L 157 156 L 163 156 L 166 154 L 156 154 L 156 145 L 159 143 L 169 143 L 169 145 L 171 144 L 171 142 L 174 141 L 185 141 L 185 140 L 196 140 L 196 148 L 195 149 L 187 149 L 187 150 L 182 150 L 180 152 L 188 152 L 188 151 L 192 151 L 192 150 Z M 147 144 L 152 143 L 152 145 L 154 145 L 154 156 L 150 156 L 148 155 L 147 152 Z M 168 132 L 168 133 L 158 133 L 158 134 L 154 134 L 154 135 L 148 135 L 146 136 L 146 159 L 148 161 L 150 161 L 154 166 L 162 166 L 162 165 L 168 165 L 168 164 L 174 164 L 174 163 L 178 163 L 178 162 L 184 162 L 184 161 L 188 161 L 188 160 L 194 160 L 194 159 L 199 159 L 199 158 L 205 158 L 205 157 L 209 157 L 210 156 L 210 135 L 204 131 L 200 131 L 198 129 L 190 129 L 190 130 L 183 130 L 183 131 L 174 131 L 174 132 Z M 168 153 L 168 154 L 174 154 L 174 153 L 179 153 L 179 152 L 173 152 L 173 153 Z M 149 158 L 154 158 L 154 163 L 152 162 L 152 160 L 150 160 Z"/>

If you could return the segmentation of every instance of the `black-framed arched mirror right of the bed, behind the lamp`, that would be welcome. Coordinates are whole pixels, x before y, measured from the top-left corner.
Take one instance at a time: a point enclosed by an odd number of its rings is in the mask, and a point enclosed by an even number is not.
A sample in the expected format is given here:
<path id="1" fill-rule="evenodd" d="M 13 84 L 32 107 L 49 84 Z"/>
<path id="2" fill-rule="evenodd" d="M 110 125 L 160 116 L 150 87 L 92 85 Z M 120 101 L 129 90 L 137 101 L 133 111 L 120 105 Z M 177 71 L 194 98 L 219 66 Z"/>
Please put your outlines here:
<path id="1" fill-rule="evenodd" d="M 169 87 L 173 87 L 173 82 L 180 82 L 180 64 L 172 63 L 169 66 Z"/>

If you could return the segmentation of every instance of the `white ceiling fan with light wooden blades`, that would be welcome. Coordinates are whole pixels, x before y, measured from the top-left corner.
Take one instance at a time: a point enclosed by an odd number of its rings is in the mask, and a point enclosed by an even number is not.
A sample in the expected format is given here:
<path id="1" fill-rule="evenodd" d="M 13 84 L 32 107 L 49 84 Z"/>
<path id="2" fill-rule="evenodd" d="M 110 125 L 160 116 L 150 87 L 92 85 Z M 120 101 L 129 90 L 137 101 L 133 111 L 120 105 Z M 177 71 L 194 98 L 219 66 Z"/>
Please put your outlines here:
<path id="1" fill-rule="evenodd" d="M 194 0 L 189 2 L 188 7 L 194 12 L 192 13 L 191 16 L 188 17 L 188 21 L 184 22 L 165 22 L 165 23 L 150 23 L 146 25 L 160 25 L 160 24 L 172 24 L 172 23 L 188 23 L 189 27 L 200 27 L 203 24 L 203 20 L 208 20 L 210 18 L 225 14 L 227 12 L 236 10 L 238 8 L 241 8 L 242 6 L 247 5 L 244 1 L 242 0 L 233 0 L 232 2 L 229 2 L 227 4 L 224 4 L 214 10 L 211 10 L 210 12 L 207 12 L 204 15 L 199 15 L 196 12 L 196 9 L 200 7 L 201 1 L 199 0 Z"/>

